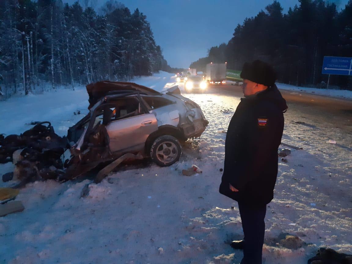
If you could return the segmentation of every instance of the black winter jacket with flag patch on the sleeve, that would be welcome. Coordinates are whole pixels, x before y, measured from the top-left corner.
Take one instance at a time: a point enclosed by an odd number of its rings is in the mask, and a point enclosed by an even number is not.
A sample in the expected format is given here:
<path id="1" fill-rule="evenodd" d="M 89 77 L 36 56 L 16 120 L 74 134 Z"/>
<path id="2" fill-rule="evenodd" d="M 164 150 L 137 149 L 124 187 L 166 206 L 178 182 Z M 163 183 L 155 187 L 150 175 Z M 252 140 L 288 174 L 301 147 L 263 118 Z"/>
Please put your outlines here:
<path id="1" fill-rule="evenodd" d="M 241 98 L 227 130 L 221 194 L 251 206 L 273 199 L 286 109 L 275 84 Z M 230 184 L 239 191 L 231 191 Z"/>

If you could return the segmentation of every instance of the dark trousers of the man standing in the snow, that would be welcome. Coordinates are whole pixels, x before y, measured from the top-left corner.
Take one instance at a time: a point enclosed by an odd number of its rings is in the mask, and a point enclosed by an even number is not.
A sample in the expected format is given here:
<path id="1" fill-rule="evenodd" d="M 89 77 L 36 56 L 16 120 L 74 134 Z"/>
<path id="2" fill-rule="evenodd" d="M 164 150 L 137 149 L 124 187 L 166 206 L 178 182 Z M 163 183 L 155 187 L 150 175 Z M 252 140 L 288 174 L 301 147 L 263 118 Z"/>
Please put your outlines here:
<path id="1" fill-rule="evenodd" d="M 266 205 L 249 207 L 238 203 L 244 233 L 244 249 L 241 264 L 262 264 Z"/>

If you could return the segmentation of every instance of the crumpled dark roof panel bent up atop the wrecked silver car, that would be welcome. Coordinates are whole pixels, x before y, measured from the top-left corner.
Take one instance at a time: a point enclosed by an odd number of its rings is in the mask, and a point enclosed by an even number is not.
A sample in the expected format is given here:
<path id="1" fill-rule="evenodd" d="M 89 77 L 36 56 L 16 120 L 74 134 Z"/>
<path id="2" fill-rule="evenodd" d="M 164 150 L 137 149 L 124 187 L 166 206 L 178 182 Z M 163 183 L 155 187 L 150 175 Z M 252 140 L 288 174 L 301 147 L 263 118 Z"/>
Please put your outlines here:
<path id="1" fill-rule="evenodd" d="M 100 81 L 96 83 L 90 83 L 86 86 L 89 95 L 89 107 L 90 109 L 100 98 L 105 95 L 126 91 L 139 91 L 140 93 L 147 95 L 161 95 L 161 93 L 148 88 L 143 85 L 139 85 L 133 82 L 111 82 L 111 81 Z"/>

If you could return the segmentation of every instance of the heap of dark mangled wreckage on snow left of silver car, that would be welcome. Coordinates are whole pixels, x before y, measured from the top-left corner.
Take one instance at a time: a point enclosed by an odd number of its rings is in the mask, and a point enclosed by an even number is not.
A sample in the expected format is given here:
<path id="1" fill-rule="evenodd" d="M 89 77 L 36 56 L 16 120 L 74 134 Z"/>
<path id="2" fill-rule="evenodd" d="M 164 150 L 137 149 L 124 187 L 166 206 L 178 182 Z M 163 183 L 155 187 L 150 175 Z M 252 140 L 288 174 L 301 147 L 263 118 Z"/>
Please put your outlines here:
<path id="1" fill-rule="evenodd" d="M 12 178 L 23 183 L 61 177 L 61 155 L 68 147 L 67 138 L 55 134 L 48 121 L 32 123 L 36 125 L 19 136 L 9 135 L 0 140 L 0 163 L 12 161 Z M 11 174 L 3 175 L 5 181 L 12 178 Z"/>

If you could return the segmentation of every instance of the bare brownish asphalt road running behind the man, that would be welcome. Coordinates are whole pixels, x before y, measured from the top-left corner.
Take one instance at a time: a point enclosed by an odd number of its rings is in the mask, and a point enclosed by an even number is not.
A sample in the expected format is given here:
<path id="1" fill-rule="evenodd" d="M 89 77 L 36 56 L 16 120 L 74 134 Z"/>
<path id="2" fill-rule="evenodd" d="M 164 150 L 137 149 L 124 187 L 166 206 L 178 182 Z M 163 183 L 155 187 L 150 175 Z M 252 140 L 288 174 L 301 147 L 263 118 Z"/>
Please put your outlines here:
<path id="1" fill-rule="evenodd" d="M 242 88 L 234 85 L 212 86 L 209 87 L 209 92 L 243 97 Z M 312 120 L 327 127 L 340 128 L 352 134 L 352 100 L 301 91 L 280 90 L 280 92 L 287 101 L 288 116 L 294 114 L 295 117 L 300 116 L 305 120 Z"/>

